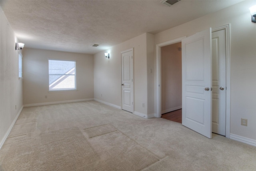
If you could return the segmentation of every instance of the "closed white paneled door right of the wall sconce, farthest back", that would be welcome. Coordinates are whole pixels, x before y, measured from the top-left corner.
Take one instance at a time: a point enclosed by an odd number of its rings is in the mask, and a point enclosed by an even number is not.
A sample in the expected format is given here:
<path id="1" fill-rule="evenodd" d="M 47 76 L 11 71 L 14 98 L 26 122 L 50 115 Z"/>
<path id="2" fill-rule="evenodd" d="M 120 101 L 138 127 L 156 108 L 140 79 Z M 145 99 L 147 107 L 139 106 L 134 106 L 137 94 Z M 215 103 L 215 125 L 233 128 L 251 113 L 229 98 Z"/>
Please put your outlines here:
<path id="1" fill-rule="evenodd" d="M 122 109 L 133 113 L 133 50 L 122 56 Z"/>

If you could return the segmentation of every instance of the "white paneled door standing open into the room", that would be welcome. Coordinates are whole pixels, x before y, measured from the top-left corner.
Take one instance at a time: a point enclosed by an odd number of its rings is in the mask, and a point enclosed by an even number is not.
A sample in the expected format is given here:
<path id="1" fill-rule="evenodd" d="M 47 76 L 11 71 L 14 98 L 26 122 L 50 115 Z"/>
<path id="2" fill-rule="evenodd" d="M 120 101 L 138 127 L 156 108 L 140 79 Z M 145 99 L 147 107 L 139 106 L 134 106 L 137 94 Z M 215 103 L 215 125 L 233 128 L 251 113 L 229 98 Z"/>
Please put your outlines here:
<path id="1" fill-rule="evenodd" d="M 182 125 L 212 138 L 212 29 L 182 40 Z"/>

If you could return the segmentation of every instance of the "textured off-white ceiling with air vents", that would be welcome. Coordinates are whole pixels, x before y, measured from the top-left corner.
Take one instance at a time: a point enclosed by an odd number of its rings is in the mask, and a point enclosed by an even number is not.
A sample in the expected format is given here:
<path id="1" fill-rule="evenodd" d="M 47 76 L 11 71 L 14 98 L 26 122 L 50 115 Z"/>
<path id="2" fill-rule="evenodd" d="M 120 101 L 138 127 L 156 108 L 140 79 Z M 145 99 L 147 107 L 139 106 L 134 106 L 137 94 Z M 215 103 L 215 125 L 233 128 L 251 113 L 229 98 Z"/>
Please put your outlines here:
<path id="1" fill-rule="evenodd" d="M 0 6 L 25 48 L 96 54 L 240 1 L 181 0 L 168 7 L 160 0 L 1 0 Z"/>

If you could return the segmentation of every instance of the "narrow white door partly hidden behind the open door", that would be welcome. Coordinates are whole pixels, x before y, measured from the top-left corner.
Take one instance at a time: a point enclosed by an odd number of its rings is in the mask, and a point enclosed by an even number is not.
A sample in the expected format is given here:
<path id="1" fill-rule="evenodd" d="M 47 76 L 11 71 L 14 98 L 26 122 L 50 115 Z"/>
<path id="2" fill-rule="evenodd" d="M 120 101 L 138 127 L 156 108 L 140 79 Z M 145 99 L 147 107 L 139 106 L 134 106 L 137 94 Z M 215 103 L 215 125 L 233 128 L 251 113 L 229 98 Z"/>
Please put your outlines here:
<path id="1" fill-rule="evenodd" d="M 212 32 L 212 132 L 226 135 L 226 36 Z"/>

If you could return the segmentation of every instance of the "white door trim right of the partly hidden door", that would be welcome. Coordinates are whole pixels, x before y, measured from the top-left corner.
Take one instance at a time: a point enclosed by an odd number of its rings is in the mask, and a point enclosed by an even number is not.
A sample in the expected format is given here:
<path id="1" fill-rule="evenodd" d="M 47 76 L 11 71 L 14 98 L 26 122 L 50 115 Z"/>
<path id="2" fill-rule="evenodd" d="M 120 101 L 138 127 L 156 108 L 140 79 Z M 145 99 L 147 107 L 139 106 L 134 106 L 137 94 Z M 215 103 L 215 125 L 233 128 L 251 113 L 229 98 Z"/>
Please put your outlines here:
<path id="1" fill-rule="evenodd" d="M 226 138 L 230 138 L 231 77 L 230 77 L 230 24 L 213 28 L 212 32 L 226 31 Z"/>

